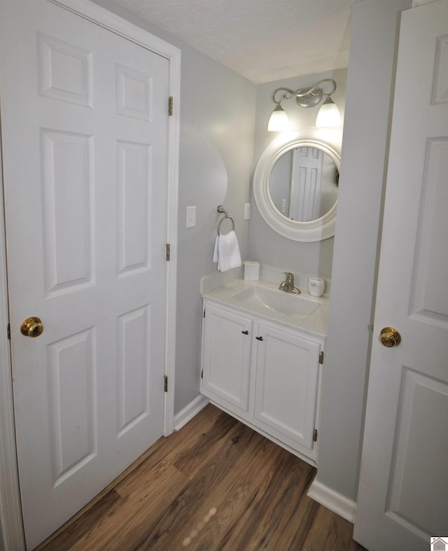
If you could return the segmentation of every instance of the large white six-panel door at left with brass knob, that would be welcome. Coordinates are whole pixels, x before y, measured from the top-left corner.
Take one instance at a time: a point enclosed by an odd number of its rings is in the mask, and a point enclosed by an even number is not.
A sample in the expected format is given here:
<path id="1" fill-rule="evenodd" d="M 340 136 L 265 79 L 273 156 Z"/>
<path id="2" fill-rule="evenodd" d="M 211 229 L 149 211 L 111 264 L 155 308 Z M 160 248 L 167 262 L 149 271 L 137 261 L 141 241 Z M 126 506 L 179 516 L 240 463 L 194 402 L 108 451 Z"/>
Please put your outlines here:
<path id="1" fill-rule="evenodd" d="M 1 3 L 10 335 L 27 547 L 162 435 L 169 62 Z M 38 316 L 44 330 L 22 335 Z"/>

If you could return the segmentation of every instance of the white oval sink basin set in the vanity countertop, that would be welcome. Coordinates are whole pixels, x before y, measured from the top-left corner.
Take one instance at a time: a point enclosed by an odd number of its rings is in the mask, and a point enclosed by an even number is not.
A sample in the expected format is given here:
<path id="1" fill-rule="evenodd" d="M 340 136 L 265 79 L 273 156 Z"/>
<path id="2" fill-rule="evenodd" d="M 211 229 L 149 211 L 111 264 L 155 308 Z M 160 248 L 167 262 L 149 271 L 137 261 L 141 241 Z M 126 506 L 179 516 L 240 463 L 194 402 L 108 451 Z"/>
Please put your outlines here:
<path id="1" fill-rule="evenodd" d="M 247 305 L 261 306 L 281 314 L 300 317 L 309 316 L 321 306 L 321 303 L 317 300 L 258 285 L 252 285 L 244 291 L 239 291 L 239 293 L 232 295 L 232 298 L 241 300 L 242 303 Z"/>

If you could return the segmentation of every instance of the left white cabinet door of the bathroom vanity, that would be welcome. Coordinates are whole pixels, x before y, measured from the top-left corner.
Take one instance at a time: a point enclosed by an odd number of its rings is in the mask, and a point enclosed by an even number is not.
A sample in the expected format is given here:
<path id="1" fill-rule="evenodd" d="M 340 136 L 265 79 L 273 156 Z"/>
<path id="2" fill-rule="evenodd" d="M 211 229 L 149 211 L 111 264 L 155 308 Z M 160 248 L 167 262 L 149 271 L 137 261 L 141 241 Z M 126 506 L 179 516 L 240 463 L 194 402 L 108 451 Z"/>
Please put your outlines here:
<path id="1" fill-rule="evenodd" d="M 247 412 L 253 321 L 216 305 L 205 308 L 201 391 Z"/>

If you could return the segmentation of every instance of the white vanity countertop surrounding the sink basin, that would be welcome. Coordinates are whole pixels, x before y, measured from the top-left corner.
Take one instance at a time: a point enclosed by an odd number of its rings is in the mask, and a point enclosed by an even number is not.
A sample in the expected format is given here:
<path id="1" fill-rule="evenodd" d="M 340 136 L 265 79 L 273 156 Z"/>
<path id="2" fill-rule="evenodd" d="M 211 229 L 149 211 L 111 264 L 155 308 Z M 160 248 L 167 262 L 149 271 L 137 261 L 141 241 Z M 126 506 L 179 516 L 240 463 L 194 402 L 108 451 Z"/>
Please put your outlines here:
<path id="1" fill-rule="evenodd" d="M 253 314 L 262 319 L 281 323 L 291 328 L 300 328 L 304 333 L 325 339 L 328 326 L 328 304 L 330 302 L 328 295 L 324 294 L 317 298 L 309 295 L 306 289 L 300 288 L 300 297 L 318 302 L 320 306 L 311 314 L 296 316 L 291 314 L 283 314 L 282 312 L 267 307 L 266 305 L 254 300 L 241 300 L 239 298 L 235 298 L 235 294 L 240 291 L 244 291 L 253 285 L 265 287 L 275 291 L 279 290 L 279 284 L 274 283 L 273 281 L 245 281 L 244 279 L 235 279 L 235 281 L 231 281 L 228 284 L 218 287 L 214 289 L 214 291 L 203 293 L 202 298 L 217 302 L 218 304 L 224 306 L 238 309 L 241 312 Z M 290 294 L 291 300 L 294 300 L 297 296 L 292 293 L 286 293 L 285 291 L 279 291 L 279 293 L 285 293 L 287 295 Z"/>

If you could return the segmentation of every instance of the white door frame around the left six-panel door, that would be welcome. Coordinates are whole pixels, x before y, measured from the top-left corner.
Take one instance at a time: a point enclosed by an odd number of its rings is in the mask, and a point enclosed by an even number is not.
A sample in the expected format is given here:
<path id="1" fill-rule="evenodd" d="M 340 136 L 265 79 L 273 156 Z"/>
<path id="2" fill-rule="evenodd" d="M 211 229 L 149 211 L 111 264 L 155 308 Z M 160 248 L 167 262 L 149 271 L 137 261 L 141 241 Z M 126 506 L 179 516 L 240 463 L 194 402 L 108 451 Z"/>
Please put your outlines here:
<path id="1" fill-rule="evenodd" d="M 169 61 L 169 96 L 176 99 L 173 115 L 168 118 L 168 196 L 167 242 L 171 245 L 166 274 L 165 376 L 169 385 L 164 394 L 165 436 L 174 430 L 174 375 L 176 354 L 176 274 L 177 274 L 177 211 L 179 190 L 179 136 L 181 98 L 181 50 L 158 36 L 133 25 L 105 8 L 88 0 L 48 0 L 52 4 L 83 17 L 95 25 L 123 36 L 134 43 L 165 57 Z M 2 4 L 0 0 L 0 8 Z M 1 75 L 0 75 L 1 76 Z M 168 98 L 167 98 L 168 105 Z M 3 166 L 0 133 L 0 162 Z M 8 340 L 8 287 L 6 269 L 6 237 L 3 204 L 3 173 L 0 171 L 0 547 L 6 551 L 25 550 L 25 537 L 20 503 L 19 477 L 15 448 L 13 379 Z M 3 542 L 2 542 L 3 539 Z"/>

